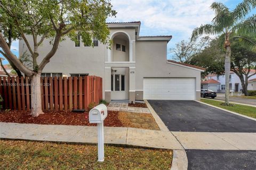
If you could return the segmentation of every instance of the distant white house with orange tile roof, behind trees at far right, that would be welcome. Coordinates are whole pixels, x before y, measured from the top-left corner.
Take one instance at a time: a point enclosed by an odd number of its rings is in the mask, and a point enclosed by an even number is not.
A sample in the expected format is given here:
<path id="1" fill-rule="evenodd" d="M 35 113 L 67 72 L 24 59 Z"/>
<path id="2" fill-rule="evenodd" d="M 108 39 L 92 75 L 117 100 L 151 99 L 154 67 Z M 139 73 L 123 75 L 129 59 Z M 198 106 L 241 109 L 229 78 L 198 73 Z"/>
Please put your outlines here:
<path id="1" fill-rule="evenodd" d="M 246 71 L 246 70 L 245 70 Z M 252 77 L 248 80 L 248 90 L 253 89 L 253 79 L 256 78 L 254 69 L 252 69 L 249 73 L 249 75 L 252 75 Z M 225 92 L 226 86 L 225 86 L 225 75 L 215 75 L 215 74 L 209 74 L 207 75 L 207 80 L 201 82 L 201 88 L 202 89 L 210 89 L 217 92 Z M 210 81 L 214 80 L 214 81 Z M 240 92 L 243 90 L 241 80 L 239 77 L 233 72 L 230 71 L 229 74 L 229 89 L 233 90 L 235 92 Z"/>

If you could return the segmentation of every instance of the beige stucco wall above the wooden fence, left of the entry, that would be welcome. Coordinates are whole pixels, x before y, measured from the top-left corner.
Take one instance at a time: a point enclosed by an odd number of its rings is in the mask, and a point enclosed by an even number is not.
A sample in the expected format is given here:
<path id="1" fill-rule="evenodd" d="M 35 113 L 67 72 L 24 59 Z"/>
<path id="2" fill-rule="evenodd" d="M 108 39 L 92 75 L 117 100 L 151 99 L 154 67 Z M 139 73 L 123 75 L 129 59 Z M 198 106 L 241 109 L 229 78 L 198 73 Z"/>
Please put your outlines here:
<path id="1" fill-rule="evenodd" d="M 33 47 L 32 37 L 28 36 L 29 43 Z M 19 41 L 19 55 L 23 52 L 29 52 L 24 45 L 24 41 Z M 23 48 L 24 47 L 24 48 Z M 52 45 L 49 39 L 45 39 L 42 46 L 38 48 L 38 64 L 43 60 L 45 55 L 50 52 Z M 103 91 L 105 91 L 105 56 L 107 48 L 99 42 L 97 47 L 84 47 L 81 41 L 80 47 L 75 47 L 74 41 L 66 37 L 65 41 L 60 42 L 55 55 L 51 58 L 50 63 L 46 64 L 43 72 L 63 73 L 69 76 L 70 73 L 89 73 L 103 78 Z M 92 64 L 93 63 L 93 64 Z M 105 93 L 103 93 L 103 97 Z"/>

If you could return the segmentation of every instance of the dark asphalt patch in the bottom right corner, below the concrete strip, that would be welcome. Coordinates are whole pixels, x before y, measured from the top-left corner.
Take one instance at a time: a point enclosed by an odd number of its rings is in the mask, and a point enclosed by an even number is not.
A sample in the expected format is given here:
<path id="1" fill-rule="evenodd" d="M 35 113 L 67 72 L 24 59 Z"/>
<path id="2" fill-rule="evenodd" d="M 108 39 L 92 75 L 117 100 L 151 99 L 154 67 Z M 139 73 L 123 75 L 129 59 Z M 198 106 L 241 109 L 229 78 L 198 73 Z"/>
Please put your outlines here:
<path id="1" fill-rule="evenodd" d="M 188 169 L 255 170 L 255 150 L 186 150 Z"/>

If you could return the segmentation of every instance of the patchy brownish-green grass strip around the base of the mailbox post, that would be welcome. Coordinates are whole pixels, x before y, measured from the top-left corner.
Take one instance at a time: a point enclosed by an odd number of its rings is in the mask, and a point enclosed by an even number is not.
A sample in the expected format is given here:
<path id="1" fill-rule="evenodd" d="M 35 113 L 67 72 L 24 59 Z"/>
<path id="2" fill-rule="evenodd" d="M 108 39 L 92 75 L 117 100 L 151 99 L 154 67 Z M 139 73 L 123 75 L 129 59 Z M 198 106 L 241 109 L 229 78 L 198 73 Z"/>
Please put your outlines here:
<path id="1" fill-rule="evenodd" d="M 0 141 L 0 169 L 170 169 L 172 150 L 105 146 L 97 159 L 95 145 Z"/>

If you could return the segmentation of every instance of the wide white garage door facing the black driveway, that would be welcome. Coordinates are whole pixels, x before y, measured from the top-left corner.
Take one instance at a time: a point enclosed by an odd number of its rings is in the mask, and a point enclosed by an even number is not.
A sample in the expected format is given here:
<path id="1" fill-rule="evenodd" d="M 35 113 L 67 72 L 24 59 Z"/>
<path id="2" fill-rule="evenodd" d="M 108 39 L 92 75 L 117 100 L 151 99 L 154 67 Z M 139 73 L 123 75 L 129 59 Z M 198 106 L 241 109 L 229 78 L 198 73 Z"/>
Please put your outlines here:
<path id="1" fill-rule="evenodd" d="M 143 98 L 154 100 L 195 100 L 195 78 L 144 78 Z"/>

